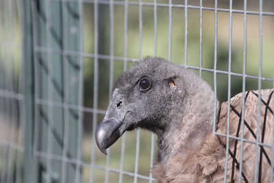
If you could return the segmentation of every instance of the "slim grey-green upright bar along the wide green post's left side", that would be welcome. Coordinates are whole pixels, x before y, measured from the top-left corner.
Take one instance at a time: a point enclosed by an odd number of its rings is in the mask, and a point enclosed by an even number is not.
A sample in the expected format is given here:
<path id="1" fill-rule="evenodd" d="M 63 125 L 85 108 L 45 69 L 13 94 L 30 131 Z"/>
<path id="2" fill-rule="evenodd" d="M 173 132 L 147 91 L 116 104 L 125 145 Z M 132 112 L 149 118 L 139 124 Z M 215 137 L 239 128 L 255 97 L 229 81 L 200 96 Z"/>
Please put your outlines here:
<path id="1" fill-rule="evenodd" d="M 32 8 L 34 7 L 34 1 L 28 1 L 24 0 L 23 3 L 23 10 L 22 10 L 22 16 L 23 16 L 23 22 L 22 22 L 22 32 L 23 32 L 23 93 L 24 93 L 24 100 L 22 103 L 22 106 L 24 109 L 23 117 L 24 117 L 24 123 L 25 123 L 25 129 L 24 132 L 24 146 L 25 146 L 25 154 L 24 154 L 24 179 L 23 182 L 37 182 L 38 181 L 38 163 L 36 162 L 36 159 L 34 158 L 34 149 L 36 148 L 36 132 L 33 133 L 33 126 L 35 125 L 35 120 L 37 118 L 37 113 L 34 110 L 34 101 L 37 96 L 37 87 L 36 80 L 33 78 L 33 75 L 35 75 L 36 71 L 34 69 L 36 68 L 36 55 L 34 54 L 34 43 L 36 42 L 35 35 L 36 32 L 34 32 L 33 25 L 36 23 L 36 21 L 33 21 L 34 19 L 34 12 L 32 11 Z M 33 33 L 33 35 L 32 35 Z M 34 60 L 32 60 L 34 59 Z M 33 64 L 34 62 L 34 64 Z M 34 88 L 36 89 L 33 91 Z M 36 92 L 37 91 L 37 92 Z M 33 93 L 34 92 L 34 93 Z M 35 127 L 36 128 L 36 125 Z M 33 144 L 34 142 L 34 144 Z"/>

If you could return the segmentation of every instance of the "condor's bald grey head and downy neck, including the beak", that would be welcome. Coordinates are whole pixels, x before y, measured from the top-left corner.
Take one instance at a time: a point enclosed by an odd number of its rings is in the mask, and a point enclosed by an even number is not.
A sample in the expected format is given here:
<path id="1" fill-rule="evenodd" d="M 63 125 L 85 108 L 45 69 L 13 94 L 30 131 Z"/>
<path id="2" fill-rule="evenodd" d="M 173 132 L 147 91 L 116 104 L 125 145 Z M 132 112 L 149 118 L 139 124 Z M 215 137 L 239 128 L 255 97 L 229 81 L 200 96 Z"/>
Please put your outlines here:
<path id="1" fill-rule="evenodd" d="M 95 138 L 106 154 L 125 131 L 150 130 L 158 135 L 158 158 L 164 160 L 201 145 L 213 116 L 214 93 L 206 82 L 183 66 L 147 57 L 116 81 Z"/>

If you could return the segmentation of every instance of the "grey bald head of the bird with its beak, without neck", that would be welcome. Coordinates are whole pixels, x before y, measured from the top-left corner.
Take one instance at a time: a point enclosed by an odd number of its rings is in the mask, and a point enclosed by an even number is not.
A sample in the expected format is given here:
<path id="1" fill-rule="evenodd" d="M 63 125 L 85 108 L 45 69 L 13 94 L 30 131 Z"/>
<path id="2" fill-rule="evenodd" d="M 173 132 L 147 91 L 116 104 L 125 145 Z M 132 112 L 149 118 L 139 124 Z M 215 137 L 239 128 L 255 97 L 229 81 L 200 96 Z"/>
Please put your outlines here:
<path id="1" fill-rule="evenodd" d="M 114 84 L 108 110 L 95 133 L 99 149 L 106 154 L 105 149 L 136 127 L 158 136 L 169 130 L 171 121 L 185 114 L 186 104 L 199 88 L 197 81 L 199 77 L 191 71 L 162 58 L 138 62 Z"/>

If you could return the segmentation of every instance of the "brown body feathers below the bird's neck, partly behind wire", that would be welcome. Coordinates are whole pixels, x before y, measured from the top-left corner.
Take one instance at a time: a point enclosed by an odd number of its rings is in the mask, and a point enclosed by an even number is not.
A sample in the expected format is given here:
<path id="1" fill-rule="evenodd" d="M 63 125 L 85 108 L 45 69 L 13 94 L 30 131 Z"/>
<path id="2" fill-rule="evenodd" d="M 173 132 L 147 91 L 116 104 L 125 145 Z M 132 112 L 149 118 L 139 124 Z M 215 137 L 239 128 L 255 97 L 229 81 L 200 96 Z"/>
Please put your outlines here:
<path id="1" fill-rule="evenodd" d="M 273 89 L 261 90 L 260 101 L 260 136 L 259 142 L 273 145 Z M 249 141 L 256 142 L 258 124 L 258 90 L 239 93 L 230 100 L 229 135 L 240 138 L 242 101 L 245 101 L 245 126 L 243 136 Z M 219 121 L 216 132 L 227 134 L 227 102 L 221 103 Z M 153 169 L 153 176 L 159 182 L 223 182 L 226 157 L 225 136 L 208 134 L 202 147 L 195 151 L 182 149 L 179 154 L 170 158 L 164 169 L 158 163 Z M 256 144 L 242 143 L 242 182 L 254 182 L 256 170 Z M 240 163 L 241 142 L 229 138 L 229 156 L 227 164 L 227 182 L 237 182 Z M 232 158 L 235 157 L 235 158 Z M 271 175 L 271 148 L 258 146 L 258 182 L 269 182 Z"/>

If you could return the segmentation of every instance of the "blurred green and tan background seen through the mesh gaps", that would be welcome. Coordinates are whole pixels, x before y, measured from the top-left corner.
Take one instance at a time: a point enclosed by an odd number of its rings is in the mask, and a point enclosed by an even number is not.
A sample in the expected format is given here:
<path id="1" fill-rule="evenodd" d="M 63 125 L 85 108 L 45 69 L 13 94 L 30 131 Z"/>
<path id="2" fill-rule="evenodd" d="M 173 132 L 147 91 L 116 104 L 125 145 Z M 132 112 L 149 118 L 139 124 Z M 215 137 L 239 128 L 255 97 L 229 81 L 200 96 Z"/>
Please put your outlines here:
<path id="1" fill-rule="evenodd" d="M 2 2 L 2 1 L 0 1 Z M 115 1 L 114 1 L 115 2 Z M 123 1 L 118 1 L 123 2 Z M 129 1 L 138 2 L 138 1 Z M 142 1 L 144 3 L 153 3 L 152 0 Z M 169 1 L 158 0 L 159 4 L 168 4 Z M 51 3 L 59 3 L 53 1 Z M 184 4 L 184 1 L 172 1 L 174 4 Z M 199 6 L 200 1 L 188 1 L 188 5 Z M 243 10 L 244 1 L 233 1 L 234 10 Z M 69 2 L 72 7 L 77 2 Z M 203 1 L 203 7 L 214 8 L 214 1 Z M 2 9 L 1 9 L 2 8 Z M 95 54 L 95 7 L 93 3 L 83 3 L 83 36 L 84 36 L 84 55 Z M 112 90 L 110 86 L 110 78 L 114 81 L 129 68 L 135 61 L 145 56 L 156 56 L 169 58 L 169 8 L 158 6 L 157 8 L 157 27 L 154 27 L 154 9 L 153 5 L 142 5 L 142 50 L 139 50 L 139 8 L 138 3 L 128 5 L 127 15 L 127 48 L 125 49 L 125 5 L 123 3 L 114 3 L 114 14 L 110 17 L 110 3 L 99 0 L 99 16 L 98 16 L 98 52 L 99 56 L 99 90 L 98 90 L 98 108 L 106 110 L 109 102 L 109 95 Z M 218 8 L 229 9 L 229 1 L 219 1 Z M 172 32 L 171 32 L 171 62 L 184 65 L 185 58 L 185 9 L 182 7 L 173 7 L 172 10 Z M 259 1 L 248 1 L 247 10 L 258 12 Z M 0 5 L 0 11 L 3 11 L 3 5 Z M 200 10 L 188 8 L 188 53 L 187 65 L 199 67 L 200 54 Z M 264 1 L 264 12 L 274 12 L 273 1 Z M 22 66 L 21 53 L 21 17 L 19 11 L 14 9 L 14 25 L 7 26 L 6 17 L 10 15 L 0 16 L 0 40 L 5 41 L 8 29 L 12 29 L 14 36 L 10 36 L 7 42 L 18 45 L 14 51 L 10 51 L 10 47 L 1 46 L 0 68 L 11 69 L 11 67 L 3 64 L 3 59 L 12 58 L 15 70 L 6 71 L 11 73 L 13 80 L 19 80 Z M 214 69 L 214 10 L 203 10 L 203 27 L 202 27 L 202 67 L 205 69 Z M 217 70 L 228 71 L 229 64 L 229 12 L 219 11 L 218 18 L 218 36 L 217 36 Z M 110 23 L 113 19 L 113 42 L 114 42 L 114 73 L 110 75 Z M 157 45 L 154 47 L 154 29 L 157 29 Z M 262 16 L 262 77 L 274 78 L 274 16 Z M 73 32 L 75 29 L 69 29 Z M 127 52 L 125 53 L 125 50 Z M 244 15 L 242 13 L 232 14 L 232 72 L 242 73 L 243 67 L 243 51 L 244 51 Z M 125 58 L 125 56 L 127 58 Z M 125 58 L 125 59 L 124 59 Z M 92 57 L 85 57 L 84 60 L 84 107 L 93 108 L 94 103 L 94 76 L 95 76 L 95 60 Z M 258 14 L 247 14 L 247 69 L 246 74 L 258 76 L 260 60 L 260 16 Z M 194 70 L 197 74 L 199 71 Z M 202 71 L 201 77 L 206 80 L 213 88 L 213 73 Z M 14 79 L 15 78 L 15 79 Z M 242 91 L 242 77 L 231 77 L 231 93 L 232 96 Z M 226 74 L 217 74 L 217 97 L 219 101 L 227 100 L 228 76 Z M 273 82 L 262 80 L 262 88 L 273 88 Z M 246 79 L 246 90 L 257 90 L 257 79 Z M 103 114 L 98 114 L 97 124 L 103 119 Z M 90 164 L 90 154 L 92 149 L 92 112 L 84 112 L 83 129 L 84 135 L 82 140 L 82 160 L 86 164 Z M 155 142 L 157 138 L 155 137 Z M 155 143 L 154 142 L 154 143 Z M 110 168 L 120 169 L 121 161 L 121 144 L 122 138 L 112 145 L 110 152 Z M 156 155 L 157 145 L 155 143 L 154 155 Z M 140 132 L 140 158 L 138 165 L 138 174 L 149 176 L 151 152 L 151 133 Z M 134 173 L 136 157 L 136 130 L 127 132 L 125 138 L 125 163 L 123 169 Z M 156 157 L 156 156 L 154 156 Z M 95 164 L 105 167 L 106 158 L 96 147 Z M 88 182 L 90 178 L 90 167 L 83 166 L 83 181 Z M 105 171 L 95 169 L 95 182 L 103 182 L 105 180 Z M 110 182 L 118 182 L 119 174 L 110 171 Z M 134 178 L 129 175 L 123 175 L 124 182 L 133 182 Z M 149 182 L 148 180 L 138 179 L 138 182 Z"/>

